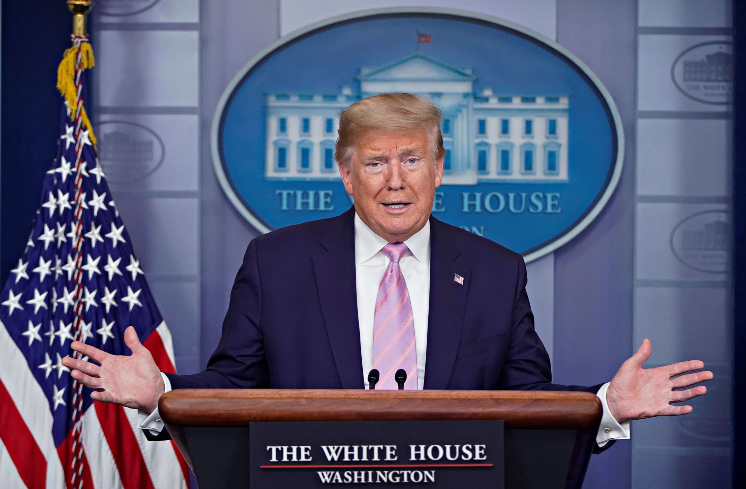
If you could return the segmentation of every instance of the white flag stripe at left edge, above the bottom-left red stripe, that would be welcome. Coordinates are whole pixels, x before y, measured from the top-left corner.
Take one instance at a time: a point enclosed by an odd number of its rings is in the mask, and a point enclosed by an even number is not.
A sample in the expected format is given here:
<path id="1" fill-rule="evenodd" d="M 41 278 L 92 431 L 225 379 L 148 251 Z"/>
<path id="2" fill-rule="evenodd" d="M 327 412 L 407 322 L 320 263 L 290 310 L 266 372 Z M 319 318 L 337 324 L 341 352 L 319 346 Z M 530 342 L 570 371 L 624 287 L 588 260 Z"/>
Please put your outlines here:
<path id="1" fill-rule="evenodd" d="M 47 462 L 46 487 L 59 489 L 64 485 L 64 473 L 57 447 L 51 435 L 51 411 L 49 401 L 28 370 L 28 363 L 13 338 L 0 321 L 0 382 L 13 399 L 25 426 L 36 440 L 37 446 Z"/>

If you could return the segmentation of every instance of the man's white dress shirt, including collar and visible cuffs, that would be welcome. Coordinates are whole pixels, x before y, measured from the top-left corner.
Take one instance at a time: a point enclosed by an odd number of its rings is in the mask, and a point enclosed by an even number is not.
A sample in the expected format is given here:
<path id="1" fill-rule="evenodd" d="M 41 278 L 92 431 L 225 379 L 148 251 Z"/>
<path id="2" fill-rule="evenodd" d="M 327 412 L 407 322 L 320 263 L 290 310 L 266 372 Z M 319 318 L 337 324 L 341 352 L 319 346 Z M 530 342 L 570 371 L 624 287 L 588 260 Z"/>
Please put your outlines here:
<path id="1" fill-rule="evenodd" d="M 388 241 L 375 234 L 360 217 L 355 214 L 355 275 L 357 287 L 357 322 L 360 326 L 360 353 L 363 358 L 363 379 L 366 389 L 368 373 L 373 368 L 373 317 L 375 299 L 378 286 L 389 258 L 381 249 Z M 409 251 L 399 261 L 399 267 L 404 274 L 407 290 L 412 303 L 412 316 L 415 323 L 415 347 L 417 351 L 417 388 L 424 386 L 424 366 L 427 353 L 427 314 L 430 311 L 430 221 L 427 221 L 420 231 L 410 239 L 404 241 Z M 163 376 L 166 385 L 165 392 L 171 390 L 169 379 Z M 606 382 L 596 394 L 601 400 L 603 415 L 598 427 L 596 443 L 604 446 L 609 440 L 626 439 L 630 437 L 630 423 L 619 424 L 609 411 L 606 404 Z M 140 414 L 140 427 L 150 429 L 154 435 L 163 429 L 158 410 L 149 416 Z"/>

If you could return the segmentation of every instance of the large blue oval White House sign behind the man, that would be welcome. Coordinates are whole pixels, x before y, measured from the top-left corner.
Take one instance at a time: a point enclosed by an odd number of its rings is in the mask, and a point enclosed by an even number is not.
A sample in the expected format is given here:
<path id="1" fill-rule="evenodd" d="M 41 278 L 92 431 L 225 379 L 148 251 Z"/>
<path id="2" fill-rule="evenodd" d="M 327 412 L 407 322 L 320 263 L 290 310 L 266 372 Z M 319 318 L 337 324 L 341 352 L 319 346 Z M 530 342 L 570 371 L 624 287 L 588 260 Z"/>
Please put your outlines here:
<path id="1" fill-rule="evenodd" d="M 228 198 L 261 232 L 345 211 L 337 114 L 386 92 L 442 110 L 445 177 L 433 215 L 526 261 L 586 228 L 621 175 L 618 112 L 573 54 L 495 17 L 402 7 L 311 25 L 246 64 L 213 119 Z"/>

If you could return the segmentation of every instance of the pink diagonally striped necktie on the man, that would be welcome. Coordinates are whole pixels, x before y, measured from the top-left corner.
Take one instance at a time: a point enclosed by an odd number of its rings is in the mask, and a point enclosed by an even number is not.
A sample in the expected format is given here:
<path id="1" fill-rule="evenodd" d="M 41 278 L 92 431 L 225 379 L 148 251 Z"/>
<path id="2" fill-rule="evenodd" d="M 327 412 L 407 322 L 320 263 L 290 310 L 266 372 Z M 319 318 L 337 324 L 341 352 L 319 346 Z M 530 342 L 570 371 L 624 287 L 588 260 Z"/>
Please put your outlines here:
<path id="1" fill-rule="evenodd" d="M 415 323 L 407 282 L 399 260 L 407 253 L 404 243 L 389 243 L 381 250 L 391 262 L 378 286 L 373 317 L 373 368 L 378 369 L 377 389 L 397 389 L 394 374 L 407 372 L 405 389 L 417 388 Z"/>

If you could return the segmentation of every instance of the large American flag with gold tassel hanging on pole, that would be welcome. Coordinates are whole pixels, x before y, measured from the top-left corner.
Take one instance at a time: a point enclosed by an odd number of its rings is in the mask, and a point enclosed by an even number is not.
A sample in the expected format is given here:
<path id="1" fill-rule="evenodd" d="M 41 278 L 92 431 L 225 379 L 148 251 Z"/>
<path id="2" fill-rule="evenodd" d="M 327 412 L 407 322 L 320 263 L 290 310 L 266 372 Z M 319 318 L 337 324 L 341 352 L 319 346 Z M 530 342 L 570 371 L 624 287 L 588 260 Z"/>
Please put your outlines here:
<path id="1" fill-rule="evenodd" d="M 73 40 L 73 103 L 63 97 L 57 158 L 25 252 L 0 293 L 0 486 L 185 488 L 189 469 L 175 445 L 145 440 L 137 411 L 94 402 L 61 363 L 78 355 L 73 340 L 129 355 L 122 335 L 134 326 L 160 370 L 175 371 L 169 328 L 82 108 L 87 37 Z"/>

